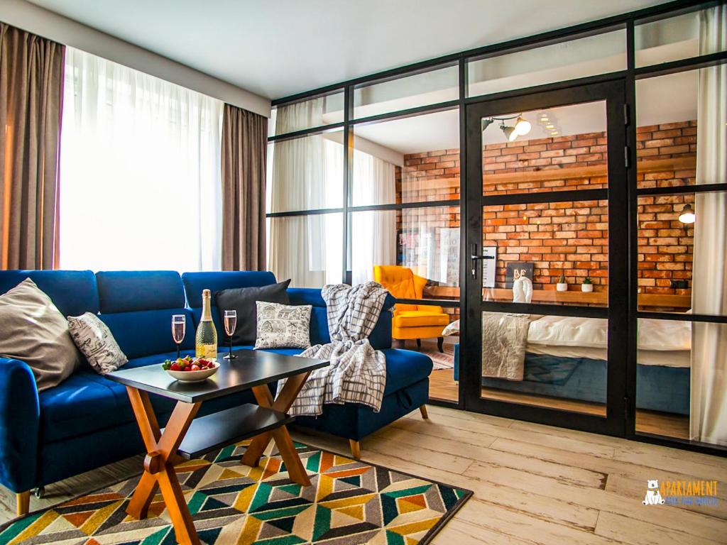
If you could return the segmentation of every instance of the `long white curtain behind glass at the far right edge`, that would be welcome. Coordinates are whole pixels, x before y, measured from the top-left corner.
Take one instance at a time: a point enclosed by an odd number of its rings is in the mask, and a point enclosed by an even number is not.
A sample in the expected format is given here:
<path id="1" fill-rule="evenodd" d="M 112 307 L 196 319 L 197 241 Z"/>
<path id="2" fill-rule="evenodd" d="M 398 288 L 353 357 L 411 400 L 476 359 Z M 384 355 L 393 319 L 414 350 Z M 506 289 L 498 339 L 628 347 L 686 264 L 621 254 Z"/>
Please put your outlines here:
<path id="1" fill-rule="evenodd" d="M 701 55 L 727 47 L 727 7 L 707 9 L 700 21 Z M 696 182 L 727 180 L 727 66 L 699 70 Z M 727 315 L 727 194 L 696 196 L 692 312 Z M 692 323 L 690 435 L 727 445 L 727 326 Z"/>

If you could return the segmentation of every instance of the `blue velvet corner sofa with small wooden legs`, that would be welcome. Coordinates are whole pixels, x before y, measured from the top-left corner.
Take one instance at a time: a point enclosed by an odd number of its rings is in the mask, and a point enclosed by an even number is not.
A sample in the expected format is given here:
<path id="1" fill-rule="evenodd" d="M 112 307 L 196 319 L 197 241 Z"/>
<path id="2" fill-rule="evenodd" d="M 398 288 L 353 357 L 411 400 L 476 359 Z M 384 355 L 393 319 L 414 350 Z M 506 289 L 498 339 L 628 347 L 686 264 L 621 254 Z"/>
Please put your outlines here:
<path id="1" fill-rule="evenodd" d="M 272 273 L 179 273 L 172 271 L 0 271 L 0 293 L 25 278 L 45 291 L 64 315 L 98 313 L 129 358 L 126 367 L 160 363 L 176 355 L 171 316 L 185 314 L 188 327 L 182 353 L 193 354 L 201 314 L 201 292 L 265 286 Z M 289 289 L 292 304 L 312 304 L 310 341 L 329 342 L 326 304 L 321 291 Z M 416 408 L 428 398 L 431 360 L 417 352 L 391 348 L 393 299 L 387 299 L 371 344 L 387 359 L 385 398 L 379 413 L 361 405 L 326 405 L 318 418 L 298 424 L 346 437 L 358 454 L 358 440 Z M 217 331 L 224 331 L 213 309 Z M 220 346 L 225 337 L 219 334 Z M 252 347 L 236 347 L 252 348 Z M 297 349 L 273 350 L 296 354 Z M 160 424 L 173 403 L 151 396 Z M 199 416 L 242 403 L 254 403 L 252 392 L 240 392 L 204 403 Z M 18 493 L 27 505 L 28 491 L 72 475 L 141 453 L 143 445 L 126 389 L 104 379 L 87 364 L 57 387 L 38 392 L 31 368 L 23 361 L 0 358 L 0 484 Z M 24 498 L 24 500 L 23 500 Z M 25 508 L 27 509 L 27 507 Z M 25 509 L 20 508 L 19 513 Z"/>

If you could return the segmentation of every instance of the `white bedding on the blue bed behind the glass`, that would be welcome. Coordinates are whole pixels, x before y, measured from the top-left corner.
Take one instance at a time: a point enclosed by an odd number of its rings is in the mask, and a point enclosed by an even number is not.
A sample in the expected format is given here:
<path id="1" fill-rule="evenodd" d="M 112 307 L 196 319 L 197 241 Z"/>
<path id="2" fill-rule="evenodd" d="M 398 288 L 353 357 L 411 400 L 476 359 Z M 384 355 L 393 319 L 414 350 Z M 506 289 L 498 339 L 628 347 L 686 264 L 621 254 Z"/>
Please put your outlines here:
<path id="1" fill-rule="evenodd" d="M 527 352 L 561 358 L 606 359 L 607 320 L 534 315 L 531 320 Z M 459 320 L 449 324 L 448 330 L 446 334 L 459 331 Z M 691 366 L 691 324 L 678 320 L 640 319 L 638 363 L 646 366 Z"/>

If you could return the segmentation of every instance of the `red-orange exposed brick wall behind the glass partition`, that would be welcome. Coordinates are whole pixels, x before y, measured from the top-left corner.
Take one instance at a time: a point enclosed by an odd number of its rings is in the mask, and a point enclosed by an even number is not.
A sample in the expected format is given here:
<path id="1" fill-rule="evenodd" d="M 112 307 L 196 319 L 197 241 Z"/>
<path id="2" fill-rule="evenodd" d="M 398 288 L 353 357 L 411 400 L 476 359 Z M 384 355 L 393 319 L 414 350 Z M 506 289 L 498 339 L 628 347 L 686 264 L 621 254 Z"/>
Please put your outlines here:
<path id="1" fill-rule="evenodd" d="M 643 126 L 637 129 L 640 161 L 696 156 L 696 121 Z M 486 194 L 531 193 L 606 187 L 604 176 L 547 180 L 489 179 L 489 174 L 596 166 L 606 163 L 603 133 L 516 140 L 483 149 L 483 190 Z M 695 182 L 693 168 L 639 172 L 640 187 L 670 187 Z M 435 150 L 404 157 L 398 169 L 400 202 L 459 198 L 459 150 Z M 688 294 L 670 287 L 670 280 L 691 282 L 692 230 L 678 221 L 693 195 L 640 198 L 639 286 L 643 293 Z M 459 227 L 459 211 L 427 214 L 425 209 L 399 214 L 398 227 L 421 225 Z M 449 212 L 448 210 L 448 212 Z M 447 219 L 449 218 L 449 219 Z M 534 262 L 534 287 L 554 288 L 561 274 L 572 284 L 586 276 L 595 290 L 608 284 L 608 209 L 606 201 L 535 203 L 488 206 L 483 210 L 483 239 L 498 246 L 497 286 L 505 283 L 510 261 Z M 691 286 L 691 284 L 690 284 Z M 578 286 L 573 286 L 578 288 Z"/>

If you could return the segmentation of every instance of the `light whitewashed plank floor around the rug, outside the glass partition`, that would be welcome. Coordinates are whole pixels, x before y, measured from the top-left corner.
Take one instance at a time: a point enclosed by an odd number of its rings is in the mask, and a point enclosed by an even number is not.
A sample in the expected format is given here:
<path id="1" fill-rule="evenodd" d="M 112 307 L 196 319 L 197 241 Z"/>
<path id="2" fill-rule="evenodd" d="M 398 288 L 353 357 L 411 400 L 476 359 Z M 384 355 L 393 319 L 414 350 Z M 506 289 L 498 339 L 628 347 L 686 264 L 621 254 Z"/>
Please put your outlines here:
<path id="1" fill-rule="evenodd" d="M 440 545 L 711 545 L 727 543 L 727 460 L 449 408 L 411 413 L 361 442 L 362 459 L 474 491 Z M 294 432 L 348 453 L 348 441 Z M 31 509 L 140 469 L 129 459 L 52 485 Z M 644 506 L 648 479 L 718 480 L 718 506 Z M 12 517 L 0 493 L 0 520 Z"/>

